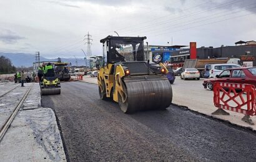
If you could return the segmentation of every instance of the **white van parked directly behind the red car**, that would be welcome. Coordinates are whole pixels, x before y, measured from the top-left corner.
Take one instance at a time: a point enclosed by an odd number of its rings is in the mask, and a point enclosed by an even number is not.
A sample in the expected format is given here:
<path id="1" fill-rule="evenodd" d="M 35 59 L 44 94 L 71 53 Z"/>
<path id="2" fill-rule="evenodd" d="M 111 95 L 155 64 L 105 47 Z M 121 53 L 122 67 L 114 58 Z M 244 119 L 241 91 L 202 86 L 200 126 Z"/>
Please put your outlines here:
<path id="1" fill-rule="evenodd" d="M 210 78 L 216 77 L 216 75 L 220 75 L 221 72 L 225 69 L 232 69 L 240 67 L 240 65 L 236 64 L 212 64 L 210 69 Z"/>

